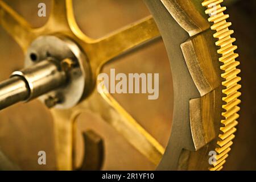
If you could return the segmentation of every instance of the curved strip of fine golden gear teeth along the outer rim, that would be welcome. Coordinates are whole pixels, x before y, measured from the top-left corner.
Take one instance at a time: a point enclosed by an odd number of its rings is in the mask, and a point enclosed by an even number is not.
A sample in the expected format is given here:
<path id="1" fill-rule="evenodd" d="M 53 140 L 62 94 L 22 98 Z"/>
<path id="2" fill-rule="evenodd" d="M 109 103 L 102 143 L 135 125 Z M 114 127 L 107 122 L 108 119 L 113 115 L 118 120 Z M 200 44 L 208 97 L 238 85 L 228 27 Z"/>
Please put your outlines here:
<path id="1" fill-rule="evenodd" d="M 236 125 L 238 124 L 237 119 L 239 115 L 237 112 L 240 110 L 240 107 L 237 105 L 241 102 L 238 99 L 241 96 L 241 93 L 238 92 L 241 88 L 241 85 L 238 84 L 241 78 L 237 76 L 240 73 L 240 69 L 236 68 L 240 63 L 236 60 L 238 54 L 234 53 L 237 46 L 233 46 L 233 42 L 236 39 L 231 37 L 234 31 L 229 30 L 231 23 L 226 21 L 229 15 L 224 14 L 226 7 L 221 6 L 222 2 L 223 0 L 205 0 L 202 3 L 203 6 L 208 7 L 205 10 L 205 13 L 210 15 L 208 21 L 213 22 L 210 28 L 216 31 L 213 37 L 218 39 L 216 42 L 216 46 L 219 47 L 217 53 L 221 54 L 218 60 L 221 62 L 220 69 L 223 71 L 221 77 L 223 78 L 222 100 L 224 104 L 222 108 L 224 111 L 222 111 L 222 126 L 215 149 L 218 154 L 217 162 L 210 168 L 211 171 L 222 169 L 223 164 L 226 162 L 230 146 L 233 143 L 232 140 L 235 137 Z"/>

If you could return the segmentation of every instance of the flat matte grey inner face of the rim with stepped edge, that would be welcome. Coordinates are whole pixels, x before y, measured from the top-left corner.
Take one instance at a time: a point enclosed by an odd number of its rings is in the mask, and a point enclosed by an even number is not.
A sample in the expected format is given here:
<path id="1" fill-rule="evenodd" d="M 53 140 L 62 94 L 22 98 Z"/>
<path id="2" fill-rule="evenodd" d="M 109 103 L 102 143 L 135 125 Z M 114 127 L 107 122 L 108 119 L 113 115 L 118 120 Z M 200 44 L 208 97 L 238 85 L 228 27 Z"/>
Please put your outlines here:
<path id="1" fill-rule="evenodd" d="M 158 169 L 175 170 L 178 168 L 183 148 L 195 150 L 189 126 L 189 99 L 200 97 L 200 94 L 188 72 L 180 49 L 180 45 L 189 38 L 188 32 L 176 22 L 162 2 L 145 2 L 151 14 L 155 16 L 155 21 L 166 45 L 174 80 L 172 132 Z"/>

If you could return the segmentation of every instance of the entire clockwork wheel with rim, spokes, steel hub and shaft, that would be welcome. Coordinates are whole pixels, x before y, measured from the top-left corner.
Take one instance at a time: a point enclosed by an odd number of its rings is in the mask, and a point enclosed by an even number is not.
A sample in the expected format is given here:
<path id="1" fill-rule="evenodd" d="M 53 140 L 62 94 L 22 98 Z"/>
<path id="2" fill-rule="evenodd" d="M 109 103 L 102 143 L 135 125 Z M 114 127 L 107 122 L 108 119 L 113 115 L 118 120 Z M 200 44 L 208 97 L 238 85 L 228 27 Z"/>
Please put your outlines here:
<path id="1" fill-rule="evenodd" d="M 223 1 L 144 0 L 150 16 L 99 39 L 80 30 L 71 0 L 52 0 L 49 19 L 39 28 L 0 1 L 0 26 L 24 53 L 24 68 L 0 83 L 0 113 L 34 99 L 46 106 L 53 119 L 59 170 L 102 168 L 108 148 L 93 130 L 82 134 L 84 159 L 75 165 L 76 119 L 84 110 L 101 117 L 155 169 L 221 170 L 233 144 L 241 102 L 236 39 Z M 173 97 L 166 146 L 112 94 L 97 92 L 97 76 L 105 64 L 156 39 L 163 40 L 174 92 L 166 96 Z M 209 163 L 211 152 L 216 154 L 214 163 Z M 2 168 L 11 163 L 6 159 Z"/>

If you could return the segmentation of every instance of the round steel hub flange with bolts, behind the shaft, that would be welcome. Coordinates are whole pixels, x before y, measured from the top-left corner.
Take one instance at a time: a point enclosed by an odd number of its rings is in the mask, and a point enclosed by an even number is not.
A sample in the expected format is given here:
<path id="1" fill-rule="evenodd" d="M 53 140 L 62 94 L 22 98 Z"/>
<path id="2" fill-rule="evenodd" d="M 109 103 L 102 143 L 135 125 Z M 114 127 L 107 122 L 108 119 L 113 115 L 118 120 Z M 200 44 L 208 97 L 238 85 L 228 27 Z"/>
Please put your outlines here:
<path id="1" fill-rule="evenodd" d="M 31 59 L 31 55 L 36 56 L 36 60 Z M 86 97 L 92 84 L 91 70 L 84 53 L 72 40 L 60 36 L 40 36 L 32 42 L 25 57 L 25 67 L 37 65 L 40 60 L 52 57 L 59 65 L 62 74 L 67 77 L 67 81 L 58 89 L 51 89 L 39 99 L 42 102 L 49 97 L 61 97 L 57 109 L 67 109 L 75 106 Z M 53 83 L 57 85 L 56 83 Z"/>

